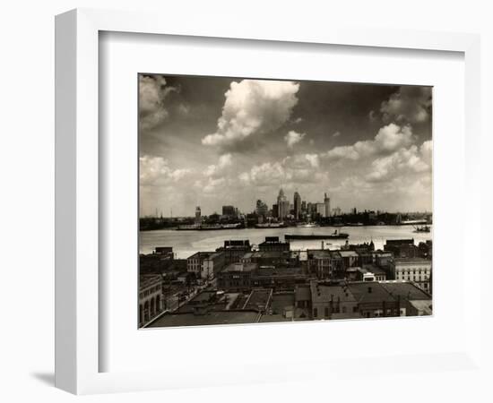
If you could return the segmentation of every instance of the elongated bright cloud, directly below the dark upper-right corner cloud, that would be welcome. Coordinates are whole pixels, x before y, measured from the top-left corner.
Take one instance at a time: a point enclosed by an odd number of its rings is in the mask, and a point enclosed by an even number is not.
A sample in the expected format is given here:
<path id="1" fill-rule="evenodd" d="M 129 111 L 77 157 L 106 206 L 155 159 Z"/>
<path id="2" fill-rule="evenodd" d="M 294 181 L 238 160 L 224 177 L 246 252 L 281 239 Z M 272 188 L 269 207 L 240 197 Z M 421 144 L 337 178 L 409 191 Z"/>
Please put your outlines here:
<path id="1" fill-rule="evenodd" d="M 374 140 L 357 141 L 352 145 L 334 147 L 323 154 L 325 159 L 358 160 L 376 154 L 388 154 L 402 147 L 408 147 L 414 141 L 411 126 L 387 124 L 380 128 Z"/>

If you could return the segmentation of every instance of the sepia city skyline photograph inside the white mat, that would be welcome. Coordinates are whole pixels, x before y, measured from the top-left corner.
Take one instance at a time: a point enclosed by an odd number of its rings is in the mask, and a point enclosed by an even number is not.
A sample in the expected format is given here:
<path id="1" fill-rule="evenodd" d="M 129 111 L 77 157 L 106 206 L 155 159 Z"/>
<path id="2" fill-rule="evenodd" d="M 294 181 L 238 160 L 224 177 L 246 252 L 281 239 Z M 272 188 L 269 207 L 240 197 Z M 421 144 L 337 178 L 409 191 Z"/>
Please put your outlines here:
<path id="1" fill-rule="evenodd" d="M 138 328 L 431 316 L 432 90 L 139 73 Z"/>

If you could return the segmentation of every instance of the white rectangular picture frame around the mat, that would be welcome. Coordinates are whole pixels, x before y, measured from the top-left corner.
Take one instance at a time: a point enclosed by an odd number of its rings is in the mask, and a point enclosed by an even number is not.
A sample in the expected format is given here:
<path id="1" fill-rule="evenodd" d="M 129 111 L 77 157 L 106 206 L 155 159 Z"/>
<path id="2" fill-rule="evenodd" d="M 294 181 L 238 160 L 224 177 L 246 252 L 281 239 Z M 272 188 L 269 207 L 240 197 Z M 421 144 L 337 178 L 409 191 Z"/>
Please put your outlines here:
<path id="1" fill-rule="evenodd" d="M 465 165 L 464 190 L 468 205 L 479 204 L 480 175 L 475 156 L 480 154 L 480 39 L 477 35 L 409 30 L 354 30 L 332 26 L 324 30 L 293 31 L 206 21 L 193 27 L 179 19 L 166 21 L 152 13 L 74 10 L 56 17 L 56 387 L 76 394 L 155 390 L 231 384 L 232 378 L 211 382 L 198 375 L 161 371 L 100 372 L 99 353 L 99 32 L 127 32 L 207 37 L 255 39 L 298 44 L 331 44 L 346 47 L 402 48 L 460 52 L 465 65 Z M 469 209 L 463 231 L 480 234 L 480 210 Z M 464 248 L 480 242 L 479 236 L 464 238 Z M 476 259 L 476 261 L 474 261 Z M 480 256 L 471 258 L 471 277 L 480 278 Z M 475 264 L 474 264 L 475 263 Z M 467 279 L 463 283 L 467 306 L 480 305 L 480 293 Z M 98 297 L 97 297 L 98 296 Z M 429 360 L 428 370 L 444 371 L 454 363 L 464 371 L 482 371 L 480 362 L 480 322 L 477 310 L 466 310 L 466 337 L 449 354 L 422 357 L 390 356 L 387 364 L 418 372 L 417 360 Z M 368 371 L 380 364 L 361 356 Z M 279 371 L 286 363 L 271 366 L 249 364 L 245 382 L 276 382 L 298 379 L 299 370 Z M 376 365 L 376 366 L 375 366 Z M 308 374 L 351 371 L 350 363 L 322 360 Z M 397 370 L 399 372 L 399 370 Z M 272 374 L 273 373 L 273 374 Z M 234 371 L 232 371 L 234 375 Z M 311 376 L 311 375 L 310 375 Z"/>

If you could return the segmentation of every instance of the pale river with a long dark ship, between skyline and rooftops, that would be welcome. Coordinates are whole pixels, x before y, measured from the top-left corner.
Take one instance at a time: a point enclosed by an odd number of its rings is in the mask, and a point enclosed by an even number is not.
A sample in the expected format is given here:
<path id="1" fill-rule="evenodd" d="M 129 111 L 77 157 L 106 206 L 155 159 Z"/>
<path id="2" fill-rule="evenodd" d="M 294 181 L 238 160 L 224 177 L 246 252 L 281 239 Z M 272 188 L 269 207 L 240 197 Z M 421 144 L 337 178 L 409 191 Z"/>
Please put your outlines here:
<path id="1" fill-rule="evenodd" d="M 160 229 L 141 231 L 140 253 L 152 253 L 156 246 L 172 246 L 177 259 L 186 259 L 200 251 L 214 251 L 223 246 L 225 240 L 248 239 L 250 244 L 264 242 L 265 236 L 279 236 L 284 240 L 284 234 L 332 234 L 334 229 L 350 235 L 350 244 L 361 244 L 373 240 L 376 249 L 383 249 L 385 240 L 414 238 L 414 243 L 426 241 L 433 237 L 433 227 L 429 233 L 416 233 L 412 226 L 368 226 L 368 227 L 287 227 L 287 228 L 245 228 L 224 229 L 219 231 L 176 231 Z M 346 241 L 324 240 L 324 247 L 339 249 Z M 322 240 L 296 240 L 290 242 L 291 250 L 320 249 Z"/>

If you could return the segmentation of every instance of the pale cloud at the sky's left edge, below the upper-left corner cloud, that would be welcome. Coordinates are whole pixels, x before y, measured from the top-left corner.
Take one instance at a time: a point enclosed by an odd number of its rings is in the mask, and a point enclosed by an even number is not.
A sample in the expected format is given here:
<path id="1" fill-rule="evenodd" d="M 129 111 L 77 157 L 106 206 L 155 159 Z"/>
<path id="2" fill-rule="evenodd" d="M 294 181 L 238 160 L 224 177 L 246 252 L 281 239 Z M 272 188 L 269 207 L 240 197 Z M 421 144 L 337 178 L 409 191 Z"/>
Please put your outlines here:
<path id="1" fill-rule="evenodd" d="M 140 184 L 164 185 L 178 182 L 191 173 L 190 169 L 172 169 L 166 159 L 144 155 L 139 159 Z"/>

